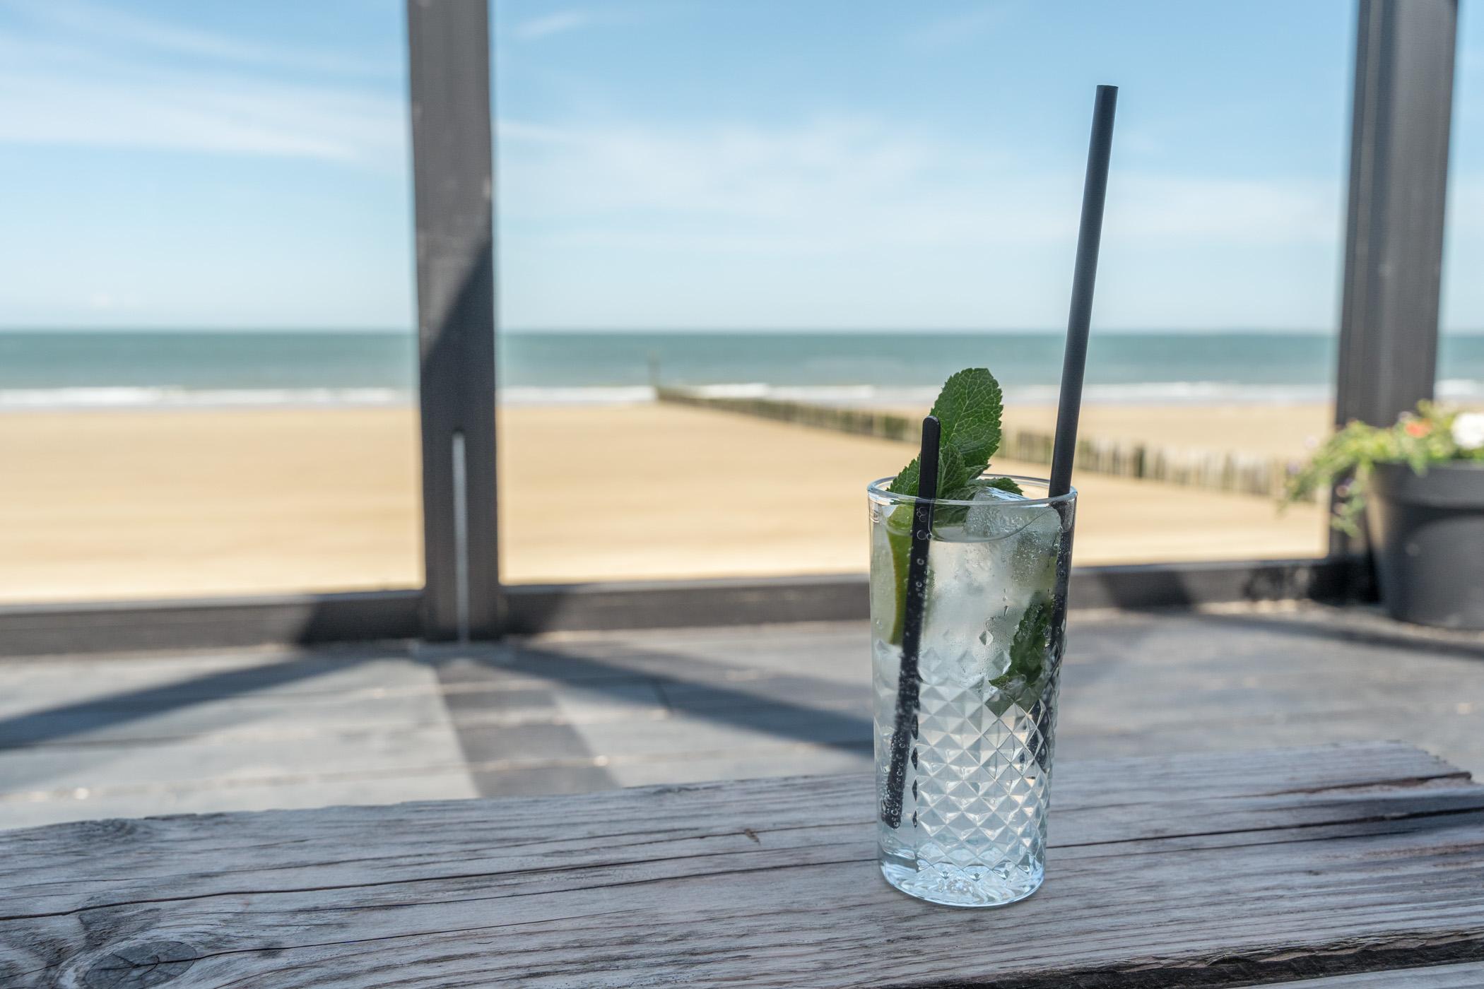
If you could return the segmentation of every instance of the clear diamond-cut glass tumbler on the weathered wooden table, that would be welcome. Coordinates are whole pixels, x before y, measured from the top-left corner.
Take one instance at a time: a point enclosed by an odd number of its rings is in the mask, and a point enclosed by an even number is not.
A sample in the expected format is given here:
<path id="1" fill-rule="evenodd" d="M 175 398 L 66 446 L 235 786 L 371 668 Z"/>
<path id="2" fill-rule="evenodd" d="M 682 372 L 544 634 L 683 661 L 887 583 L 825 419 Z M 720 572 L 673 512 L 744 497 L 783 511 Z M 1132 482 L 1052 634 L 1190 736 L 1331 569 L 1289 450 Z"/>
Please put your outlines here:
<path id="1" fill-rule="evenodd" d="M 1046 867 L 1077 495 L 981 477 L 972 500 L 933 501 L 917 612 L 919 500 L 890 480 L 867 489 L 881 873 L 932 903 L 1014 903 Z"/>

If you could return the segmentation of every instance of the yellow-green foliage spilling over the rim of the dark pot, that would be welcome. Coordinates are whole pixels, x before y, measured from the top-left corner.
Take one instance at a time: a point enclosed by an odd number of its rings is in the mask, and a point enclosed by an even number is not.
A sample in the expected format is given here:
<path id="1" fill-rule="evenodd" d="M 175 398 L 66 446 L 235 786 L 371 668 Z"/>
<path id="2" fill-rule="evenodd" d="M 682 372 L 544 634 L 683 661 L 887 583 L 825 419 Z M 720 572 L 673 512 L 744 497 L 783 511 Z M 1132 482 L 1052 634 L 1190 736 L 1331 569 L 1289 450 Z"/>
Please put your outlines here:
<path id="1" fill-rule="evenodd" d="M 1469 414 L 1420 402 L 1416 412 L 1404 412 L 1395 426 L 1352 421 L 1321 443 L 1309 463 L 1288 479 L 1284 501 L 1307 501 L 1316 492 L 1336 485 L 1339 498 L 1331 525 L 1350 535 L 1359 535 L 1365 486 L 1376 464 L 1408 464 L 1419 474 L 1425 474 L 1431 464 L 1457 460 L 1484 461 L 1484 445 L 1459 443 L 1457 436 L 1465 434 L 1465 430 L 1454 429 L 1460 415 Z"/>

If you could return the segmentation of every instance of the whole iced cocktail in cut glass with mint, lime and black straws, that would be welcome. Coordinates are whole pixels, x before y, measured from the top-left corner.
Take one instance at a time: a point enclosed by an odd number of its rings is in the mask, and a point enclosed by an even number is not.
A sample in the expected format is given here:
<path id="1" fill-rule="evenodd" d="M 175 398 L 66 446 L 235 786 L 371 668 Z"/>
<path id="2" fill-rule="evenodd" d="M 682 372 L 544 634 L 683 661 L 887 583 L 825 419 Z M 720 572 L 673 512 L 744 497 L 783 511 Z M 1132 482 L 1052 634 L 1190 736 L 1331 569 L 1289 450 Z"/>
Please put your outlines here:
<path id="1" fill-rule="evenodd" d="M 917 457 L 868 488 L 881 873 L 933 903 L 1014 903 L 1046 872 L 1071 469 L 1116 104 L 1117 87 L 1098 86 L 1051 480 L 988 473 L 1003 393 L 968 368 L 938 393 Z"/>

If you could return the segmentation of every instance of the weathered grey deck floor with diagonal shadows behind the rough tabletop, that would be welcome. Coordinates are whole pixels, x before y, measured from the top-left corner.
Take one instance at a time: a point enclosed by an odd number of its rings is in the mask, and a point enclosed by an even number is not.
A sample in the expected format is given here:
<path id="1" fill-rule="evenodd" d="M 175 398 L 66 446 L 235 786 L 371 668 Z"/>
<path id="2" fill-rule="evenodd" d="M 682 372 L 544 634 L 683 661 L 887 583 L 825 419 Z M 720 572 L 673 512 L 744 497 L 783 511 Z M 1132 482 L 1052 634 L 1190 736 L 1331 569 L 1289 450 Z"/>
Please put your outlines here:
<path id="1" fill-rule="evenodd" d="M 1484 636 L 1073 620 L 1058 759 L 1401 740 L 1484 773 Z M 864 624 L 0 664 L 0 827 L 870 765 Z"/>

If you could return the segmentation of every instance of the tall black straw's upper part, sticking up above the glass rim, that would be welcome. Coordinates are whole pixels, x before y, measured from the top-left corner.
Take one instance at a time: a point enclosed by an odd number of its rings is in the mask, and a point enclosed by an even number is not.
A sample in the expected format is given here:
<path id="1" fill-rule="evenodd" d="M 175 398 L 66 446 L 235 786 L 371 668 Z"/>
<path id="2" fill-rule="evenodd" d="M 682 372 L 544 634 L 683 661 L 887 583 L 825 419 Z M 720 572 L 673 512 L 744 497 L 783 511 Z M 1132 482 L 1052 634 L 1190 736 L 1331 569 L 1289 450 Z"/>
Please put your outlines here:
<path id="1" fill-rule="evenodd" d="M 1088 366 L 1088 326 L 1092 322 L 1092 283 L 1098 277 L 1098 243 L 1103 240 L 1103 199 L 1109 188 L 1109 154 L 1113 150 L 1113 111 L 1117 86 L 1098 86 L 1092 105 L 1092 142 L 1088 176 L 1082 184 L 1082 227 L 1077 230 L 1077 267 L 1071 274 L 1071 314 L 1067 317 L 1067 351 L 1061 360 L 1061 400 L 1057 403 L 1057 443 L 1051 452 L 1052 498 L 1071 491 L 1071 460 L 1077 452 L 1077 415 L 1082 412 L 1082 374 Z"/>

